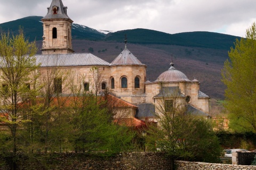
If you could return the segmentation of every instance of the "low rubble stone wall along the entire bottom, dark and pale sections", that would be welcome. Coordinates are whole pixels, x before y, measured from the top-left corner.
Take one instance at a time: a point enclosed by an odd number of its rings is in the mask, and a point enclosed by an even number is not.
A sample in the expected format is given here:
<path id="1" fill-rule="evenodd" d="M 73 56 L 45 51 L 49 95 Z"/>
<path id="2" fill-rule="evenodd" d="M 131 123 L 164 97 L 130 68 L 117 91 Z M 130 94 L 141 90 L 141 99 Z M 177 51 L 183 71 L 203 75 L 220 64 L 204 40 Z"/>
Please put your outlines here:
<path id="1" fill-rule="evenodd" d="M 39 154 L 30 157 L 20 156 L 18 160 L 19 170 L 167 170 L 171 169 L 171 160 L 159 152 L 131 152 L 121 153 L 114 157 L 100 157 L 86 154 Z M 4 164 L 0 157 L 0 170 L 11 170 L 11 165 Z M 175 161 L 175 170 L 256 170 L 256 166 L 212 164 L 199 162 Z"/>

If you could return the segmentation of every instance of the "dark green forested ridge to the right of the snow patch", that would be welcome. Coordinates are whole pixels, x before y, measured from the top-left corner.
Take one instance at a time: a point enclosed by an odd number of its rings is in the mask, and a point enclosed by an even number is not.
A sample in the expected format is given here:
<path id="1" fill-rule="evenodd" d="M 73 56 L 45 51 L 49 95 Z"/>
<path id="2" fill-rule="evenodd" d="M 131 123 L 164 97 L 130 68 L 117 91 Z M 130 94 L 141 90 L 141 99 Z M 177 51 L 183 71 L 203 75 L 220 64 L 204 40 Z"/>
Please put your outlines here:
<path id="1" fill-rule="evenodd" d="M 224 35 L 214 32 L 183 32 L 171 35 L 170 33 L 159 32 L 148 29 L 132 29 L 109 33 L 105 40 L 124 41 L 127 35 L 129 43 L 134 44 L 163 44 L 179 45 L 188 47 L 205 47 L 213 49 L 226 49 L 233 46 L 236 36 Z"/>

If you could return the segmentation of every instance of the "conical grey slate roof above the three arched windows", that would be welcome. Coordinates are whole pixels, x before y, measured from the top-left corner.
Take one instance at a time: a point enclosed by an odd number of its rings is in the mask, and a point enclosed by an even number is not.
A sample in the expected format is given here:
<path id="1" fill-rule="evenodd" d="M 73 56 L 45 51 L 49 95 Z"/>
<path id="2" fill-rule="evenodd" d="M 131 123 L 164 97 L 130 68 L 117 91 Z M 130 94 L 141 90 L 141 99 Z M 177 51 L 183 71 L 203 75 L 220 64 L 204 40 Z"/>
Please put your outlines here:
<path id="1" fill-rule="evenodd" d="M 121 52 L 110 65 L 145 65 L 135 57 L 125 45 L 125 49 Z"/>

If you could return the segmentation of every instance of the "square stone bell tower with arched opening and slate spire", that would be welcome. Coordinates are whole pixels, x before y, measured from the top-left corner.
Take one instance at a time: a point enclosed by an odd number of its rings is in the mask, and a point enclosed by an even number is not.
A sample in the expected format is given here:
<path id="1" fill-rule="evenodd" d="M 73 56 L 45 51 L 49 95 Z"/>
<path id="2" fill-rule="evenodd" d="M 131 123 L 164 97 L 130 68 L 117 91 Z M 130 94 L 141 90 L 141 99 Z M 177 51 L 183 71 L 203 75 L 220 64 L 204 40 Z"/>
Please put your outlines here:
<path id="1" fill-rule="evenodd" d="M 74 53 L 71 42 L 71 25 L 73 21 L 67 15 L 67 6 L 61 0 L 52 0 L 43 21 L 42 54 Z"/>

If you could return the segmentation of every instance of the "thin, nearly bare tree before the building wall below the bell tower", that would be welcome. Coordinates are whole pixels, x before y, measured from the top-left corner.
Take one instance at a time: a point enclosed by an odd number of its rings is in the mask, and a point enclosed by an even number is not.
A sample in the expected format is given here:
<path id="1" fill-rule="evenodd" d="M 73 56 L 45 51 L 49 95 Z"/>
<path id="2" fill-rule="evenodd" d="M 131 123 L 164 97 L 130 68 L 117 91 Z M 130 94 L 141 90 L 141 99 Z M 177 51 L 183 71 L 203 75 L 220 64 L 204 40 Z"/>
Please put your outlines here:
<path id="1" fill-rule="evenodd" d="M 54 57 L 56 57 L 55 63 L 46 61 L 46 66 L 40 70 L 40 82 L 42 84 L 41 103 L 43 104 L 40 131 L 42 133 L 41 139 L 44 141 L 45 152 L 49 148 L 56 146 L 57 143 L 59 143 L 58 146 L 61 151 L 61 138 L 63 134 L 59 133 L 58 135 L 55 131 L 61 130 L 61 124 L 63 123 L 61 119 L 66 115 L 65 110 L 61 108 L 68 100 L 70 93 L 68 89 L 70 70 L 61 67 L 58 56 Z"/>

